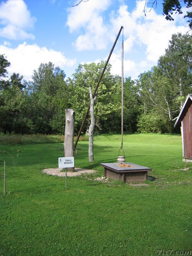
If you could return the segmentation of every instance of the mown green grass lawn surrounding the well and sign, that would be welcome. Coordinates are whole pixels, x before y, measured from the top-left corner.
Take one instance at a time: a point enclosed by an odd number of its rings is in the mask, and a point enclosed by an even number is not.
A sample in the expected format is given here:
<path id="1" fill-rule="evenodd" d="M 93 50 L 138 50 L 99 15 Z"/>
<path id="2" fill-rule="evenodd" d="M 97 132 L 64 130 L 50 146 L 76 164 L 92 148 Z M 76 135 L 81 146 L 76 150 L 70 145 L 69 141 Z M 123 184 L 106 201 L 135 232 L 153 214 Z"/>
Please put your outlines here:
<path id="1" fill-rule="evenodd" d="M 0 145 L 7 154 L 6 195 L 0 166 L 0 256 L 7 255 L 173 255 L 192 249 L 191 164 L 182 162 L 177 135 L 127 134 L 126 162 L 152 169 L 150 186 L 133 187 L 103 176 L 100 163 L 116 162 L 121 135 L 94 137 L 94 163 L 88 142 L 78 143 L 75 166 L 93 175 L 65 178 L 42 173 L 57 168 L 62 143 Z M 181 170 L 190 167 L 188 170 Z M 162 250 L 162 251 L 159 251 Z M 164 252 L 163 252 L 164 250 Z M 172 250 L 172 251 L 171 251 Z M 184 254 L 180 254 L 184 255 Z"/>

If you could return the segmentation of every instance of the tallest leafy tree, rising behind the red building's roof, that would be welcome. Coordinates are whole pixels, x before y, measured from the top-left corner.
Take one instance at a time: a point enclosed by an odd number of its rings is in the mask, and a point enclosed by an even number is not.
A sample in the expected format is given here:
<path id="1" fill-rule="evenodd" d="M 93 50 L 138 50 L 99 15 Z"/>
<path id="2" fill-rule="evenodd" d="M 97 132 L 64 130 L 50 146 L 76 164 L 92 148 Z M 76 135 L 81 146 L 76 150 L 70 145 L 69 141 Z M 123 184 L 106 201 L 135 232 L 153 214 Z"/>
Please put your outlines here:
<path id="1" fill-rule="evenodd" d="M 178 111 L 183 107 L 188 93 L 191 93 L 192 79 L 192 37 L 180 33 L 172 35 L 166 53 L 159 58 L 160 72 L 172 84 L 173 100 Z"/>

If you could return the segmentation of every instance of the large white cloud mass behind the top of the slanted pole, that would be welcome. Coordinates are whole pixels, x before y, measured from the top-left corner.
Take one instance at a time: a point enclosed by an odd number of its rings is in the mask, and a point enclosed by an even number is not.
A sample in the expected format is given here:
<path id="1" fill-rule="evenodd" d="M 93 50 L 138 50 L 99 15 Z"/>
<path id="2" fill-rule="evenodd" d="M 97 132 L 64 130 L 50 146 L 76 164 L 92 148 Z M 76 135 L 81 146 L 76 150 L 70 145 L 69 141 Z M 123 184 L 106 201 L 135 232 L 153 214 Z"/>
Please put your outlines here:
<path id="1" fill-rule="evenodd" d="M 68 9 L 66 25 L 77 39 L 73 46 L 77 50 L 101 50 L 112 46 L 121 26 L 124 27 L 124 76 L 137 76 L 157 64 L 160 55 L 168 47 L 172 34 L 189 30 L 182 15 L 175 15 L 175 21 L 167 21 L 155 9 L 143 9 L 145 0 L 137 0 L 136 7 L 129 11 L 124 0 L 119 0 L 119 9 L 105 17 L 111 0 L 96 0 L 82 3 Z M 183 12 L 184 13 L 184 12 Z M 111 72 L 121 76 L 121 38 L 110 59 Z"/>

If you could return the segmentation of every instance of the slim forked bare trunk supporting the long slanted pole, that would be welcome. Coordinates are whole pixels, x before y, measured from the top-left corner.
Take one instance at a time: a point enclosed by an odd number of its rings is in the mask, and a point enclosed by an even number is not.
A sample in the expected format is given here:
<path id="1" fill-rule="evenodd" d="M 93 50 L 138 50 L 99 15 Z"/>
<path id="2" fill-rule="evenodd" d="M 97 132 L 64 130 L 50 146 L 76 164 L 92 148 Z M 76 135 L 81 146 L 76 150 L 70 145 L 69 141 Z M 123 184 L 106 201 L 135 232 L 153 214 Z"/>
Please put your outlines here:
<path id="1" fill-rule="evenodd" d="M 89 126 L 89 162 L 94 161 L 93 157 L 93 130 L 95 128 L 95 117 L 94 117 L 94 104 L 97 97 L 97 92 L 95 97 L 93 98 L 93 93 L 91 87 L 89 87 L 89 94 L 90 94 L 90 117 L 91 123 Z"/>

